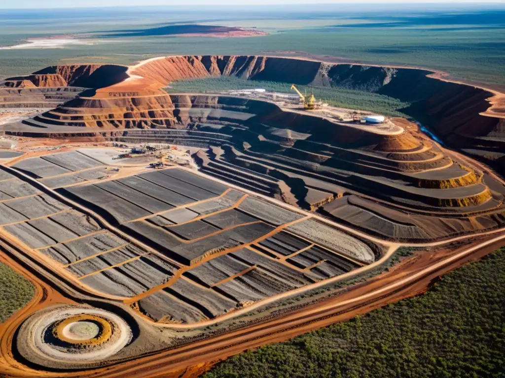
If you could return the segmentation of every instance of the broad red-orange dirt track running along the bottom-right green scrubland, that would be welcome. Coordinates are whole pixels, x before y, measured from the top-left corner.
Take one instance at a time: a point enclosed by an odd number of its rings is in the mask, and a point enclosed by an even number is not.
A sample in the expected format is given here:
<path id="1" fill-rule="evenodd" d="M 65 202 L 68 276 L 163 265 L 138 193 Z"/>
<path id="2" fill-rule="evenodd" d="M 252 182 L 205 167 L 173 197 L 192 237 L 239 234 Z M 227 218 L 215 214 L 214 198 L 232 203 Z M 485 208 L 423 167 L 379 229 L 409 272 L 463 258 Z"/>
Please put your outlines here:
<path id="1" fill-rule="evenodd" d="M 488 238 L 489 239 L 489 238 Z M 74 376 L 74 377 L 196 377 L 205 372 L 215 362 L 223 360 L 233 354 L 245 349 L 256 348 L 272 342 L 285 341 L 294 336 L 325 327 L 330 324 L 348 320 L 357 314 L 369 312 L 375 308 L 382 307 L 388 303 L 400 299 L 423 293 L 430 286 L 434 279 L 440 275 L 456 269 L 470 261 L 475 261 L 503 245 L 503 241 L 494 241 L 492 244 L 480 247 L 471 253 L 465 253 L 471 245 L 483 242 L 474 239 L 472 244 L 456 247 L 456 249 L 442 249 L 437 251 L 422 251 L 415 256 L 404 260 L 388 272 L 377 276 L 363 284 L 359 284 L 354 290 L 342 293 L 338 296 L 314 303 L 299 309 L 290 311 L 271 319 L 264 319 L 260 323 L 246 326 L 242 329 L 228 333 L 216 335 L 205 340 L 195 341 L 186 346 L 175 347 L 170 350 L 151 353 L 129 362 L 118 363 L 104 368 L 97 368 L 89 371 L 73 372 L 47 372 L 35 371 L 23 366 L 12 359 L 10 355 L 10 342 L 16 327 L 2 329 L 2 348 L 0 358 L 4 362 L 0 367 L 0 373 L 7 373 L 15 377 L 31 376 Z M 452 261 L 444 264 L 447 259 Z M 439 264 L 436 269 L 424 271 Z M 421 274 L 421 272 L 423 272 Z M 403 279 L 408 279 L 416 274 L 419 278 L 409 281 L 407 284 L 384 290 L 388 285 L 394 284 Z M 377 295 L 366 297 L 367 294 L 378 290 Z M 363 299 L 361 299 L 365 296 Z M 349 300 L 356 298 L 355 302 Z M 344 302 L 345 301 L 345 302 Z M 340 304 L 340 303 L 348 304 Z M 45 301 L 43 302 L 45 304 Z M 23 310 L 28 313 L 33 312 L 33 307 L 28 305 Z M 19 317 L 17 314 L 16 323 L 19 325 L 26 316 Z M 13 318 L 10 319 L 12 321 Z M 214 361 L 214 362 L 209 362 Z"/>

